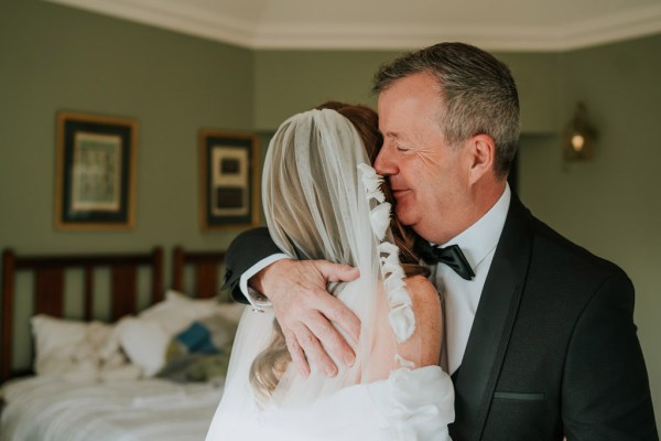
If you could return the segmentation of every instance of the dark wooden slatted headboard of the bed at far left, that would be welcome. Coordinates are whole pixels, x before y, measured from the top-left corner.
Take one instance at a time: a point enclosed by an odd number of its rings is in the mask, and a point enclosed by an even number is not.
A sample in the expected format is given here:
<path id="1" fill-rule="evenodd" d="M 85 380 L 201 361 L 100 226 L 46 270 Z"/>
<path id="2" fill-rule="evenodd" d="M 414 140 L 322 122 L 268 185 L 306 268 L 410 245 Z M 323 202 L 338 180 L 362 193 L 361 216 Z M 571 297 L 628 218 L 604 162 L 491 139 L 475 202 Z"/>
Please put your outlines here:
<path id="1" fill-rule="evenodd" d="M 33 275 L 34 308 L 31 315 L 44 313 L 63 316 L 65 273 L 72 269 L 83 270 L 83 313 L 84 320 L 93 319 L 95 270 L 110 270 L 110 319 L 137 312 L 138 270 L 147 268 L 151 276 L 151 303 L 163 298 L 163 250 L 160 247 L 151 252 L 97 254 L 97 255 L 51 255 L 18 256 L 11 249 L 2 252 L 2 338 L 0 340 L 0 384 L 11 376 L 14 282 L 17 272 Z"/>

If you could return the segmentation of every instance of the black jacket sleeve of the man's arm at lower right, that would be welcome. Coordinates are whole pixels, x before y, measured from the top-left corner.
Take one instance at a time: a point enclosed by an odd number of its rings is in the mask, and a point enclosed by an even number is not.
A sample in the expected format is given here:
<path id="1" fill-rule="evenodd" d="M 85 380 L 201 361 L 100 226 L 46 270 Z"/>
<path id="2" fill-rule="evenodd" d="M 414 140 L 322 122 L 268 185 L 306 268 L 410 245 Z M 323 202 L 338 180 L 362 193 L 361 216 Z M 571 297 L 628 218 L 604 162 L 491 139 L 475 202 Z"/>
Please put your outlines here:
<path id="1" fill-rule="evenodd" d="M 568 440 L 659 440 L 633 302 L 633 286 L 619 270 L 576 322 L 563 381 Z"/>

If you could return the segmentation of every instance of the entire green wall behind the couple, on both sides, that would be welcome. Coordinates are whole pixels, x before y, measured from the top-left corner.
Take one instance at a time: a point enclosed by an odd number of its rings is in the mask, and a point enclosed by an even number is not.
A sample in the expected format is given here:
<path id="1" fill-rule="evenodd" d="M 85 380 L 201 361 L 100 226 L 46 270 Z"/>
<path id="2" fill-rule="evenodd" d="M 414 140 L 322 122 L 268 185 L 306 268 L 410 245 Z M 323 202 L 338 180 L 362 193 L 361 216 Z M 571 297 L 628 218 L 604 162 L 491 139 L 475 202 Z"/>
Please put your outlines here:
<path id="1" fill-rule="evenodd" d="M 636 322 L 661 419 L 661 35 L 563 53 L 499 53 L 520 89 L 519 193 L 552 227 L 614 260 L 637 287 Z M 197 132 L 278 125 L 327 99 L 373 105 L 394 51 L 251 51 L 37 0 L 0 4 L 0 247 L 19 252 L 225 248 L 198 228 Z M 560 133 L 583 100 L 594 160 L 563 163 Z M 55 112 L 136 118 L 137 222 L 54 229 Z M 169 277 L 169 275 L 166 275 Z M 169 279 L 165 280 L 169 282 Z"/>

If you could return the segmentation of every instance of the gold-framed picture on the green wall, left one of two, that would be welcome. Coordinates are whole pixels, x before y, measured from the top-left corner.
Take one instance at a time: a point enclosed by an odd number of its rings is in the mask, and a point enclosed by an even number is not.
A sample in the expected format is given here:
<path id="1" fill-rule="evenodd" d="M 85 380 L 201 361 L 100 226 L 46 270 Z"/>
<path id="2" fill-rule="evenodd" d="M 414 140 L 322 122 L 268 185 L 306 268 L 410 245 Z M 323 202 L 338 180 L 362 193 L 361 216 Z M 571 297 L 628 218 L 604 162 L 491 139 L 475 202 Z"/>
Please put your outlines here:
<path id="1" fill-rule="evenodd" d="M 102 116 L 57 114 L 55 226 L 133 226 L 138 125 Z"/>

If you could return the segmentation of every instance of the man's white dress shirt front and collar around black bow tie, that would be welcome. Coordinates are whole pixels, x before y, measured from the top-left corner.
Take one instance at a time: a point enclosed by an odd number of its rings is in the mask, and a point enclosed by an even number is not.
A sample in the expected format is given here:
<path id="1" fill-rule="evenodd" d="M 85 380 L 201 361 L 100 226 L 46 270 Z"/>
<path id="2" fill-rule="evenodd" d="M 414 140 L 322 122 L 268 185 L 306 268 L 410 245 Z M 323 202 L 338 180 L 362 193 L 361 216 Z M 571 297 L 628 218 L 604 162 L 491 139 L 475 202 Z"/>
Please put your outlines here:
<path id="1" fill-rule="evenodd" d="M 444 263 L 431 268 L 430 280 L 438 292 L 445 294 L 446 335 L 443 351 L 451 375 L 460 366 L 464 358 L 477 304 L 505 226 L 510 200 L 511 191 L 507 185 L 498 202 L 479 220 L 446 244 L 440 244 L 443 247 L 458 245 L 462 248 L 475 272 L 473 280 L 463 279 Z"/>

